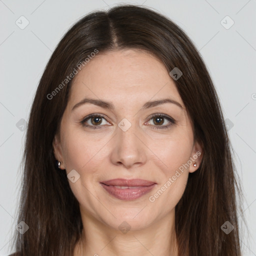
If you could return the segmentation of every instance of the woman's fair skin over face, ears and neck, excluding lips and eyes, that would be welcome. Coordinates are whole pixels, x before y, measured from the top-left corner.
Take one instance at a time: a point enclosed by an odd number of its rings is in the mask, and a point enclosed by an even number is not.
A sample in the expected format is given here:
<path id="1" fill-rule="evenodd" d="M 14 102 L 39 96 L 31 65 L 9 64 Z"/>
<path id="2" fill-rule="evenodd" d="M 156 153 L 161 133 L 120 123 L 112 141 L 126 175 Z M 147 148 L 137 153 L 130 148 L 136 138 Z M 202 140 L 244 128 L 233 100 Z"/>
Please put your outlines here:
<path id="1" fill-rule="evenodd" d="M 111 101 L 114 109 L 85 103 L 72 110 L 84 97 Z M 141 109 L 147 101 L 167 97 L 182 108 L 164 103 Z M 79 122 L 91 113 L 104 115 L 100 124 L 93 123 L 93 118 L 86 121 L 101 128 Z M 157 117 L 150 119 L 154 113 L 166 114 L 176 122 L 166 129 L 154 129 L 170 123 L 164 118 L 157 124 Z M 131 123 L 126 131 L 118 127 L 123 118 Z M 187 111 L 160 60 L 134 49 L 99 52 L 73 79 L 53 148 L 60 168 L 67 174 L 75 169 L 80 175 L 74 183 L 68 179 L 79 202 L 85 237 L 76 244 L 74 256 L 177 255 L 175 205 L 201 156 L 155 201 L 149 201 L 149 196 L 202 149 L 193 139 Z M 135 200 L 120 200 L 99 183 L 112 178 L 141 178 L 157 185 Z M 123 221 L 130 225 L 126 233 L 118 228 Z"/>

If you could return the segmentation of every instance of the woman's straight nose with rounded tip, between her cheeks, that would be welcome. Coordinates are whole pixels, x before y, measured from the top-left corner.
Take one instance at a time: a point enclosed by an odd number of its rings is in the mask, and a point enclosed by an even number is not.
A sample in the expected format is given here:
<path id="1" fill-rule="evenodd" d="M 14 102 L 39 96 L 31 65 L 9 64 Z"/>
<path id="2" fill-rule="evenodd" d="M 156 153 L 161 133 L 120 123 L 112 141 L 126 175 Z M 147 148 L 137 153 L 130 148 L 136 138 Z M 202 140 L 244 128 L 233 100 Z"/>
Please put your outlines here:
<path id="1" fill-rule="evenodd" d="M 125 131 L 120 127 L 116 127 L 116 135 L 112 141 L 111 162 L 127 169 L 143 165 L 147 151 L 145 137 L 135 124 L 124 129 Z"/>

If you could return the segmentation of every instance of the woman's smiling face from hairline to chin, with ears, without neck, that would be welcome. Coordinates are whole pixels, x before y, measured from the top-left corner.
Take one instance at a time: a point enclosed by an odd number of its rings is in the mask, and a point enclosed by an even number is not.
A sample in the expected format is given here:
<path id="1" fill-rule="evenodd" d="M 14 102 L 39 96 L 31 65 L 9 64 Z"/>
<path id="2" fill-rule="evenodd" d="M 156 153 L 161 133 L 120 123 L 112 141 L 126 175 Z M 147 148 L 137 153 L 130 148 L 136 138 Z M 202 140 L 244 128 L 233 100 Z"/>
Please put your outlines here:
<path id="1" fill-rule="evenodd" d="M 149 104 L 163 99 L 172 102 Z M 89 114 L 95 116 L 86 119 Z M 134 230 L 174 217 L 201 151 L 164 65 L 132 49 L 99 52 L 75 75 L 53 146 L 60 168 L 71 171 L 68 182 L 82 217 L 115 229 L 126 221 Z M 108 186 L 113 195 L 101 182 L 116 178 L 154 184 L 123 190 Z"/>

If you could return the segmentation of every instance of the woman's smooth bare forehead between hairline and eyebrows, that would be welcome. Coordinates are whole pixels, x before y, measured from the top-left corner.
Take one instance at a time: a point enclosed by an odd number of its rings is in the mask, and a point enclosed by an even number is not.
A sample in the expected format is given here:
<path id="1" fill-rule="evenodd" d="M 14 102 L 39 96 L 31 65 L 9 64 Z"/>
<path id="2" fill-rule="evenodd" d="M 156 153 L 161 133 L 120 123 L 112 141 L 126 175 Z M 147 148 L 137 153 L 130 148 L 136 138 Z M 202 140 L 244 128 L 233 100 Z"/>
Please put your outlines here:
<path id="1" fill-rule="evenodd" d="M 164 64 L 137 49 L 99 51 L 92 57 L 73 78 L 69 99 L 75 103 L 84 96 L 122 104 L 169 96 L 182 104 Z"/>

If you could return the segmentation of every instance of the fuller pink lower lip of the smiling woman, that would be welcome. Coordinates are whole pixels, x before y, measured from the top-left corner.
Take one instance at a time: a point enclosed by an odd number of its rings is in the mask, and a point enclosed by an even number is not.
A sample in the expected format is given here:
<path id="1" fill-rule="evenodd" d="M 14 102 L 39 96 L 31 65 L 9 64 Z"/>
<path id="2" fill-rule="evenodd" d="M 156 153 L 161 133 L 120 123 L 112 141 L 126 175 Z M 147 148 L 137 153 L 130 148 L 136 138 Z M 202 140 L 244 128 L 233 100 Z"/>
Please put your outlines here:
<path id="1" fill-rule="evenodd" d="M 113 195 L 114 197 L 121 199 L 121 200 L 134 200 L 139 198 L 145 193 L 148 193 L 156 184 L 152 184 L 150 186 L 137 186 L 136 188 L 117 188 L 112 185 L 105 185 L 100 183 L 105 190 Z"/>

